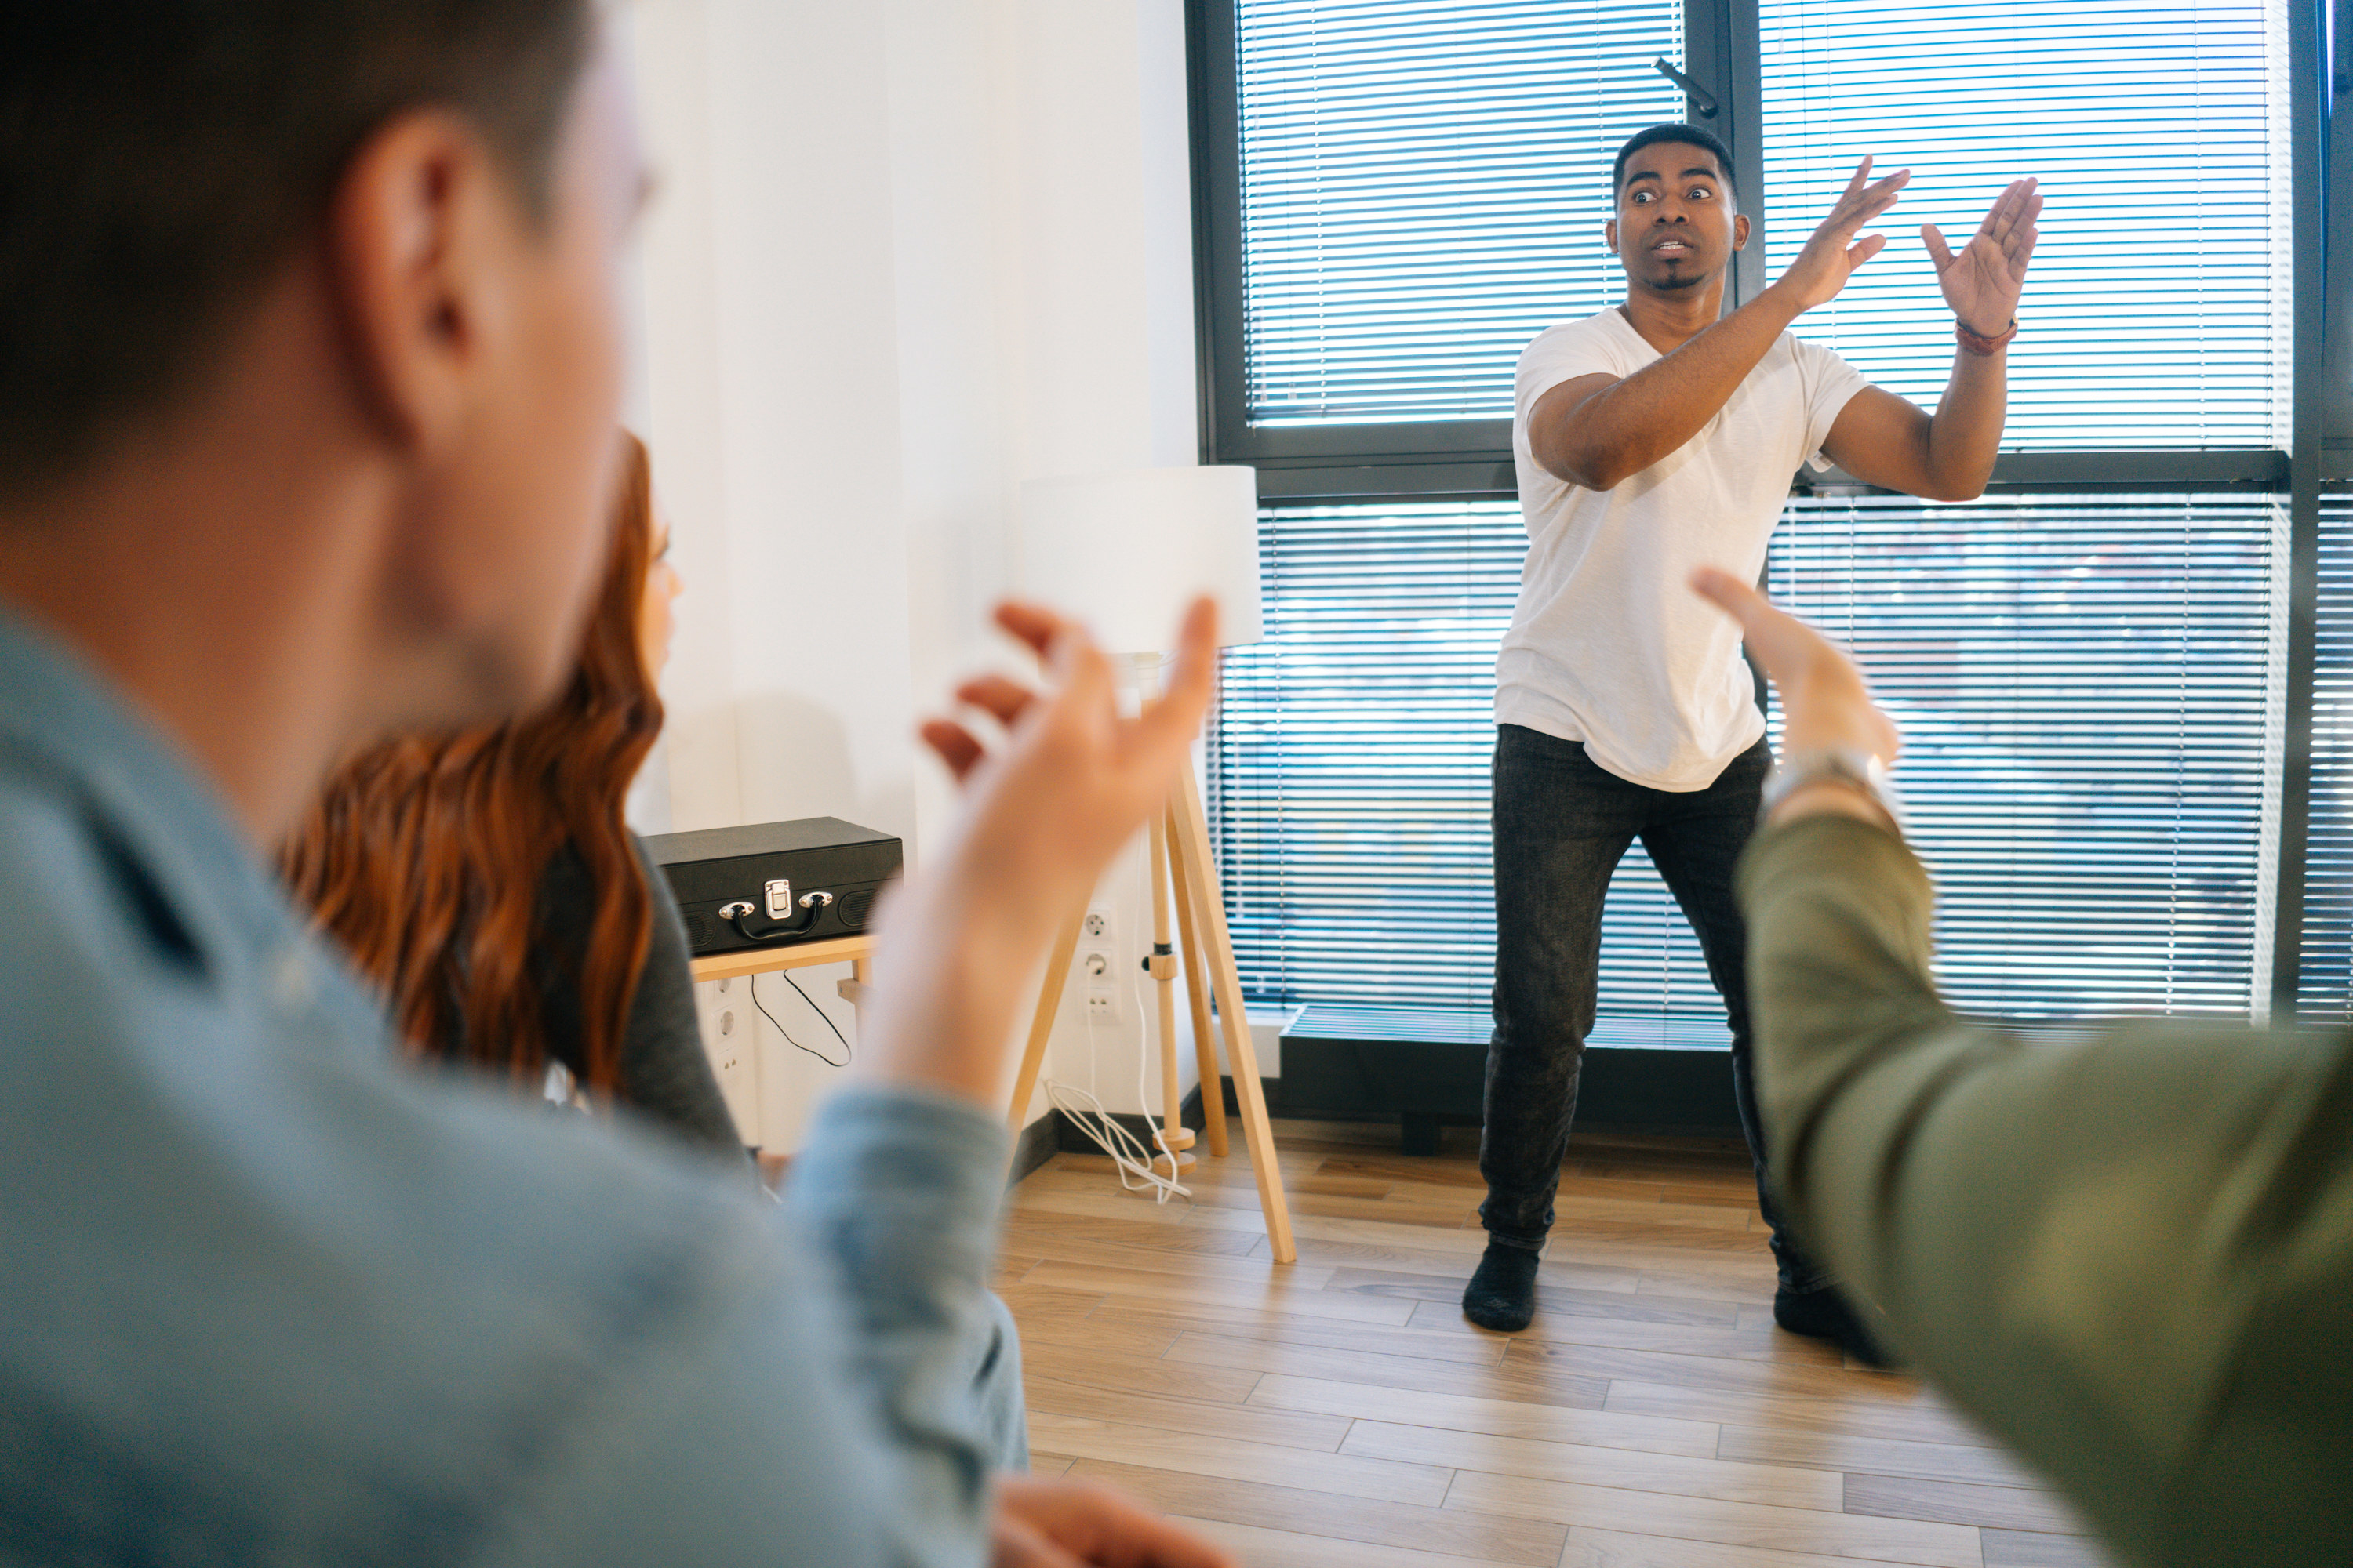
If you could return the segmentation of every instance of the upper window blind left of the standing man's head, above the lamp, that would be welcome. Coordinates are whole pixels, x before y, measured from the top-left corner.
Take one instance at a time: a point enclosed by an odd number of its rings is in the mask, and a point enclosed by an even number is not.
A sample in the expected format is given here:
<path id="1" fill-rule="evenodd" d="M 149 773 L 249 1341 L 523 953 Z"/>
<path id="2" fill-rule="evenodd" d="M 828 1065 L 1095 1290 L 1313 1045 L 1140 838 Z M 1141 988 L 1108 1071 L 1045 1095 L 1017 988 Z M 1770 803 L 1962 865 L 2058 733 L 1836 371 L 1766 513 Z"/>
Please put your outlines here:
<path id="1" fill-rule="evenodd" d="M 1614 289 L 1605 160 L 1682 118 L 1682 0 L 1240 0 L 1235 49 L 1249 421 L 1508 416 Z"/>

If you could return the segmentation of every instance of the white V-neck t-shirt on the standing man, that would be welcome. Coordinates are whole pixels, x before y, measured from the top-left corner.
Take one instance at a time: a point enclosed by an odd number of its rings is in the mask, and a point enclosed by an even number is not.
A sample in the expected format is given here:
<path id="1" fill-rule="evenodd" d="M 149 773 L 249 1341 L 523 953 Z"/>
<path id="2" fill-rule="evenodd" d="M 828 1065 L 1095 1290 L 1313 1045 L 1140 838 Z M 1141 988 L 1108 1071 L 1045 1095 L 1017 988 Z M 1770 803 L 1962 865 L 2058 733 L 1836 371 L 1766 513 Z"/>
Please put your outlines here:
<path id="1" fill-rule="evenodd" d="M 1765 715 L 1739 628 L 1687 578 L 1701 564 L 1762 571 L 1791 475 L 1819 458 L 1866 381 L 1784 331 L 1699 435 L 1617 489 L 1567 484 L 1537 463 L 1527 414 L 1539 397 L 1657 357 L 1614 308 L 1551 327 L 1520 355 L 1511 454 L 1527 567 L 1497 658 L 1494 719 L 1584 741 L 1619 778 L 1706 790 L 1765 733 Z"/>

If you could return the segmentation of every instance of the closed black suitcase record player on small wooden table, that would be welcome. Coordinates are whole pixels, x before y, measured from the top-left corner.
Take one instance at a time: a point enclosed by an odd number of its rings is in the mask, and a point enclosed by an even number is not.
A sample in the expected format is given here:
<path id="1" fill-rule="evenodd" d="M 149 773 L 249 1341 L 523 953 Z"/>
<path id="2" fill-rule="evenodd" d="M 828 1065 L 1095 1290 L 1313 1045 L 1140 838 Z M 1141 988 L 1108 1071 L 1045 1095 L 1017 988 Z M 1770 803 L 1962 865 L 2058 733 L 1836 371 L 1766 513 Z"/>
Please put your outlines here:
<path id="1" fill-rule="evenodd" d="M 856 936 L 899 875 L 899 839 L 833 816 L 645 839 L 694 957 Z"/>

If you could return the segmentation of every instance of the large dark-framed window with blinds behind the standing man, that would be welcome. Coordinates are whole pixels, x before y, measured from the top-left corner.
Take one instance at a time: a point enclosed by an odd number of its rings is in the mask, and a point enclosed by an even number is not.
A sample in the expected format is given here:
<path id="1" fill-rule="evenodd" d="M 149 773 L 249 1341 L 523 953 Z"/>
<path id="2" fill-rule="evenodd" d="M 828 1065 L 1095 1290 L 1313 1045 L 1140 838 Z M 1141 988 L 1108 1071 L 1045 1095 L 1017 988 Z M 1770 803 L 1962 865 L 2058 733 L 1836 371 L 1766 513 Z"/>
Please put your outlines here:
<path id="1" fill-rule="evenodd" d="M 1953 341 L 1918 226 L 1962 240 L 2019 174 L 2049 200 L 1993 491 L 1927 505 L 1828 475 L 1769 562 L 1911 733 L 1944 980 L 2042 1018 L 2264 1011 L 2275 954 L 2313 990 L 2329 940 L 2353 952 L 2325 931 L 2353 931 L 2353 849 L 2332 870 L 2318 811 L 2353 799 L 2353 743 L 2311 731 L 2297 651 L 2320 583 L 2318 423 L 2294 397 L 2318 308 L 2299 317 L 2289 242 L 2320 200 L 2318 16 L 1195 0 L 1212 456 L 1259 465 L 1266 501 L 1268 639 L 1231 661 L 1212 745 L 1245 987 L 1475 1034 L 1492 658 L 1525 550 L 1511 369 L 1619 294 L 1598 242 L 1617 141 L 1715 108 L 1762 228 L 1741 289 L 1861 153 L 1915 172 L 1887 254 L 1798 331 L 1925 407 Z M 2339 665 L 2322 684 L 2353 691 Z M 1715 1018 L 1640 849 L 1609 893 L 1602 1013 L 1621 1039 Z"/>

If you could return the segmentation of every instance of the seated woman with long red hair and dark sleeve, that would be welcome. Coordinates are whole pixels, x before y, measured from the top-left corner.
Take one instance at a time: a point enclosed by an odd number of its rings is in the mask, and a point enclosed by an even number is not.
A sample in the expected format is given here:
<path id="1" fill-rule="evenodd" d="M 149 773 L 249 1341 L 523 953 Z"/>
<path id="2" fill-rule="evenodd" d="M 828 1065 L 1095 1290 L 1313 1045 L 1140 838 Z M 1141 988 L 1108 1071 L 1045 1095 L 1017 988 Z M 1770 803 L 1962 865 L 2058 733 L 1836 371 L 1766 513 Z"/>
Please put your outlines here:
<path id="1" fill-rule="evenodd" d="M 560 1063 L 595 1105 L 741 1161 L 694 1023 L 687 938 L 621 820 L 661 733 L 654 672 L 678 576 L 638 437 L 581 656 L 548 708 L 405 736 L 336 769 L 282 870 L 388 999 L 409 1046 L 536 1093 Z"/>

